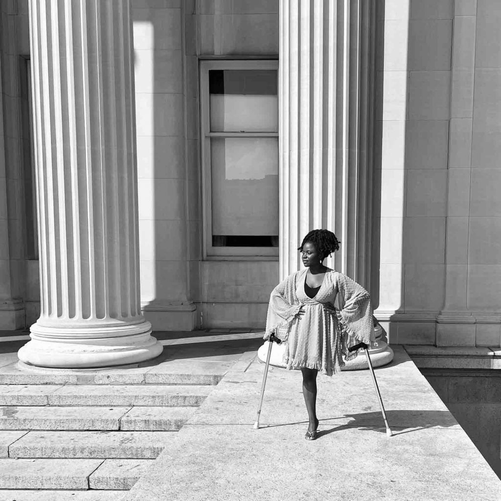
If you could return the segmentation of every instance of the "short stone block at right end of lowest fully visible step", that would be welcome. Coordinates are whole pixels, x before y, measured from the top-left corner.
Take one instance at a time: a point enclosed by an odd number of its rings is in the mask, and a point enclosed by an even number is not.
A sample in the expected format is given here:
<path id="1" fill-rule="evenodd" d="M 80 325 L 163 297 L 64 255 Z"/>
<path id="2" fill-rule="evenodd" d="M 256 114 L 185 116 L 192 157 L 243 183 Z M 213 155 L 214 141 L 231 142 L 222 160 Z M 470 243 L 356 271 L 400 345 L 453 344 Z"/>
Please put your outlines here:
<path id="1" fill-rule="evenodd" d="M 128 490 L 153 462 L 153 459 L 106 459 L 90 476 L 90 488 Z"/>

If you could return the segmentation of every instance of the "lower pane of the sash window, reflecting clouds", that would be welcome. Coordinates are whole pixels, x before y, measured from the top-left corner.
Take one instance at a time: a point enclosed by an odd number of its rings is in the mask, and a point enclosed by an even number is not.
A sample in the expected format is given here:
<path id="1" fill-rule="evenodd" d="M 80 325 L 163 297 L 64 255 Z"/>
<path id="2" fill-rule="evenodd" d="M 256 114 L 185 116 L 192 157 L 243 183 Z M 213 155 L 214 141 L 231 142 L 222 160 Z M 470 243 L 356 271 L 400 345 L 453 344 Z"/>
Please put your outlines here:
<path id="1" fill-rule="evenodd" d="M 212 243 L 278 245 L 278 138 L 211 138 Z"/>

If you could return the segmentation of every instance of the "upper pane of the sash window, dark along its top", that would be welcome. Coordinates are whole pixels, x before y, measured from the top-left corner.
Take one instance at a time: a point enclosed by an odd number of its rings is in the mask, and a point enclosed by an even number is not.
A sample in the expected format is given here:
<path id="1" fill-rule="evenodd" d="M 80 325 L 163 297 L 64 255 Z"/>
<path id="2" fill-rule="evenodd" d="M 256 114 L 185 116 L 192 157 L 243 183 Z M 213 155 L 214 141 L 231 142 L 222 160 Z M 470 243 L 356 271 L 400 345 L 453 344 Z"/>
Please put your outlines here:
<path id="1" fill-rule="evenodd" d="M 209 71 L 211 132 L 277 132 L 276 70 Z"/>

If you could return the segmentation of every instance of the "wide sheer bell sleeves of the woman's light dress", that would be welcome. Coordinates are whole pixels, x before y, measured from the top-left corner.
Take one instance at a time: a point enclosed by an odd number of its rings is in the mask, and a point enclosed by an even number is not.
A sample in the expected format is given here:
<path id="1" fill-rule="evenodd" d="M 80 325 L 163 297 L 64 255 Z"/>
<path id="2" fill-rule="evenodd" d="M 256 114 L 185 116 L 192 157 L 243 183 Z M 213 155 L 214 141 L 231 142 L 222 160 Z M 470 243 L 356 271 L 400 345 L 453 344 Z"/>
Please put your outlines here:
<path id="1" fill-rule="evenodd" d="M 292 321 L 302 306 L 296 294 L 297 281 L 304 280 L 306 271 L 301 270 L 289 275 L 272 291 L 266 318 L 265 339 L 274 333 L 279 339 L 287 342 Z M 322 306 L 327 312 L 336 316 L 339 335 L 342 337 L 344 358 L 351 360 L 357 356 L 357 352 L 349 353 L 348 347 L 361 341 L 369 347 L 377 346 L 374 342 L 370 295 L 348 276 L 339 272 L 334 273 L 337 308 L 328 303 L 323 303 Z"/>

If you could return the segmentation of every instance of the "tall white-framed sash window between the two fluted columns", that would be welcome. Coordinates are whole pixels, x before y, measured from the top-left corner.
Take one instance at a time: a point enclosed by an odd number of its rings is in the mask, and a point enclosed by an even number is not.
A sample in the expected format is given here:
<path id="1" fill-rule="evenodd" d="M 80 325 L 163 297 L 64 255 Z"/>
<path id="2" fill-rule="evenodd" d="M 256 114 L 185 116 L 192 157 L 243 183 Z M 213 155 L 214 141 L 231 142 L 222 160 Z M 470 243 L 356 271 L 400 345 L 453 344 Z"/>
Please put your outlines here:
<path id="1" fill-rule="evenodd" d="M 278 256 L 278 61 L 200 63 L 206 256 Z"/>

